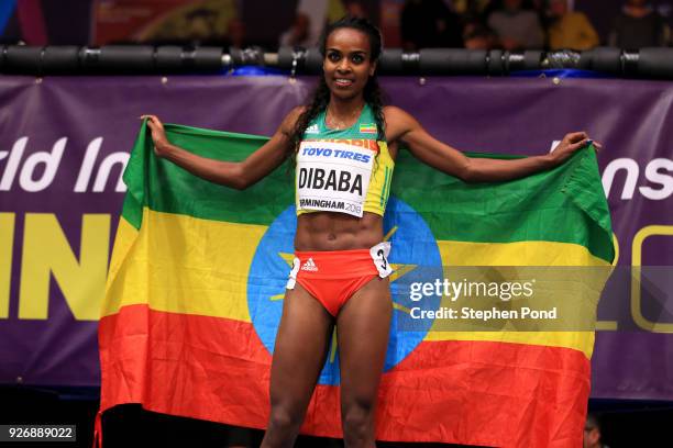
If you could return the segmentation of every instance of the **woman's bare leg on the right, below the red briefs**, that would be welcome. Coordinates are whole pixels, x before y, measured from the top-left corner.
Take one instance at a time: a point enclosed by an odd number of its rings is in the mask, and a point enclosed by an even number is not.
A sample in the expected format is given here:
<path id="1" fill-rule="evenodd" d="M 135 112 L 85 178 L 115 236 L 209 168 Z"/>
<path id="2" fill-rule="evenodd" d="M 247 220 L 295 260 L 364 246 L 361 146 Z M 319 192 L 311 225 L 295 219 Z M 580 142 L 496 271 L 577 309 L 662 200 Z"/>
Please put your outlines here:
<path id="1" fill-rule="evenodd" d="M 388 279 L 360 289 L 336 317 L 341 421 L 345 446 L 374 447 L 374 414 L 386 358 L 393 303 Z"/>

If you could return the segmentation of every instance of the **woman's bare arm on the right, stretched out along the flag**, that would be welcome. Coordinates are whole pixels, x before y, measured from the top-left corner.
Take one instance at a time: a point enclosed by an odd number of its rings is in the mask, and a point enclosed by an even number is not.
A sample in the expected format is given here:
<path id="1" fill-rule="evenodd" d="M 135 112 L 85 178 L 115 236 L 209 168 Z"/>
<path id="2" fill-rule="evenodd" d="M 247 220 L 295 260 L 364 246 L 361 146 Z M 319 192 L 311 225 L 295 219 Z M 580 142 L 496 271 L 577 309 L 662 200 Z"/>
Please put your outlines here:
<path id="1" fill-rule="evenodd" d="M 404 142 L 422 163 L 466 182 L 510 180 L 551 169 L 588 144 L 586 133 L 575 132 L 566 134 L 551 154 L 506 160 L 470 158 L 432 137 L 416 119 L 399 108 L 385 108 L 385 116 L 389 142 Z"/>

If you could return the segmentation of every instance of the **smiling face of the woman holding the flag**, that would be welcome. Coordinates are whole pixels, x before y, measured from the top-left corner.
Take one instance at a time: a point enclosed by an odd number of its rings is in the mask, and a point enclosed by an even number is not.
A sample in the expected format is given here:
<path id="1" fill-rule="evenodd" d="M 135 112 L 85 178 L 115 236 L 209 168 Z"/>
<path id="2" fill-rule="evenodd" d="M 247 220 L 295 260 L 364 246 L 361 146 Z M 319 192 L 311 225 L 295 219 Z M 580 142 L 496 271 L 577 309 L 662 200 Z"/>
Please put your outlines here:
<path id="1" fill-rule="evenodd" d="M 324 80 L 333 96 L 351 99 L 362 94 L 374 75 L 369 37 L 354 29 L 336 29 L 327 38 Z"/>

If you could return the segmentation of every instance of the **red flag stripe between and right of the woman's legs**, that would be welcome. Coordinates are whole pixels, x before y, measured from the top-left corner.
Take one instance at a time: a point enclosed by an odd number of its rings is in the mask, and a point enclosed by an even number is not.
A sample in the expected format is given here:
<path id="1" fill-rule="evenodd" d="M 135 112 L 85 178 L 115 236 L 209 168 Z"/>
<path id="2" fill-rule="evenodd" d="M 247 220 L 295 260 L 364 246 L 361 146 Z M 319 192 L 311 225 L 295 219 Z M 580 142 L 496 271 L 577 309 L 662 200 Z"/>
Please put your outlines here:
<path id="1" fill-rule="evenodd" d="M 591 363 L 577 350 L 426 341 L 384 374 L 379 440 L 498 447 L 582 446 Z M 319 387 L 302 432 L 341 437 L 338 390 Z M 313 397 L 316 399 L 316 397 Z"/>

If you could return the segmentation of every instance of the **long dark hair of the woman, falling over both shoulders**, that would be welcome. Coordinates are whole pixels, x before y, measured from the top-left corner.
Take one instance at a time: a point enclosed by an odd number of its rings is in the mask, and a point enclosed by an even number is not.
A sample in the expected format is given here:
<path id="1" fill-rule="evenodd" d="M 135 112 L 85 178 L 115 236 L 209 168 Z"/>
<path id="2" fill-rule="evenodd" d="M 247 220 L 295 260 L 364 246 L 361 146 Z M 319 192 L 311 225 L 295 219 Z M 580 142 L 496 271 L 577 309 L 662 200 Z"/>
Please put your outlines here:
<path id="1" fill-rule="evenodd" d="M 376 26 L 374 26 L 366 19 L 358 19 L 353 16 L 344 16 L 336 22 L 328 25 L 320 37 L 320 54 L 324 58 L 327 53 L 327 40 L 329 35 L 339 29 L 353 29 L 363 32 L 369 38 L 369 60 L 373 63 L 377 61 L 380 57 L 380 53 L 383 51 L 380 31 Z M 385 120 L 383 113 L 383 92 L 380 87 L 378 86 L 378 80 L 376 79 L 376 74 L 367 79 L 367 83 L 364 87 L 363 91 L 364 100 L 374 112 L 374 117 L 376 120 L 376 128 L 378 130 L 377 139 L 385 139 Z M 306 132 L 311 120 L 313 120 L 318 114 L 324 111 L 330 102 L 330 89 L 324 81 L 324 76 L 320 77 L 320 81 L 318 87 L 313 91 L 311 96 L 311 100 L 307 103 L 306 110 L 299 115 L 297 119 L 297 123 L 295 124 L 295 128 L 290 134 L 290 146 L 288 150 L 296 153 L 299 148 L 299 143 L 301 142 L 301 137 Z"/>

